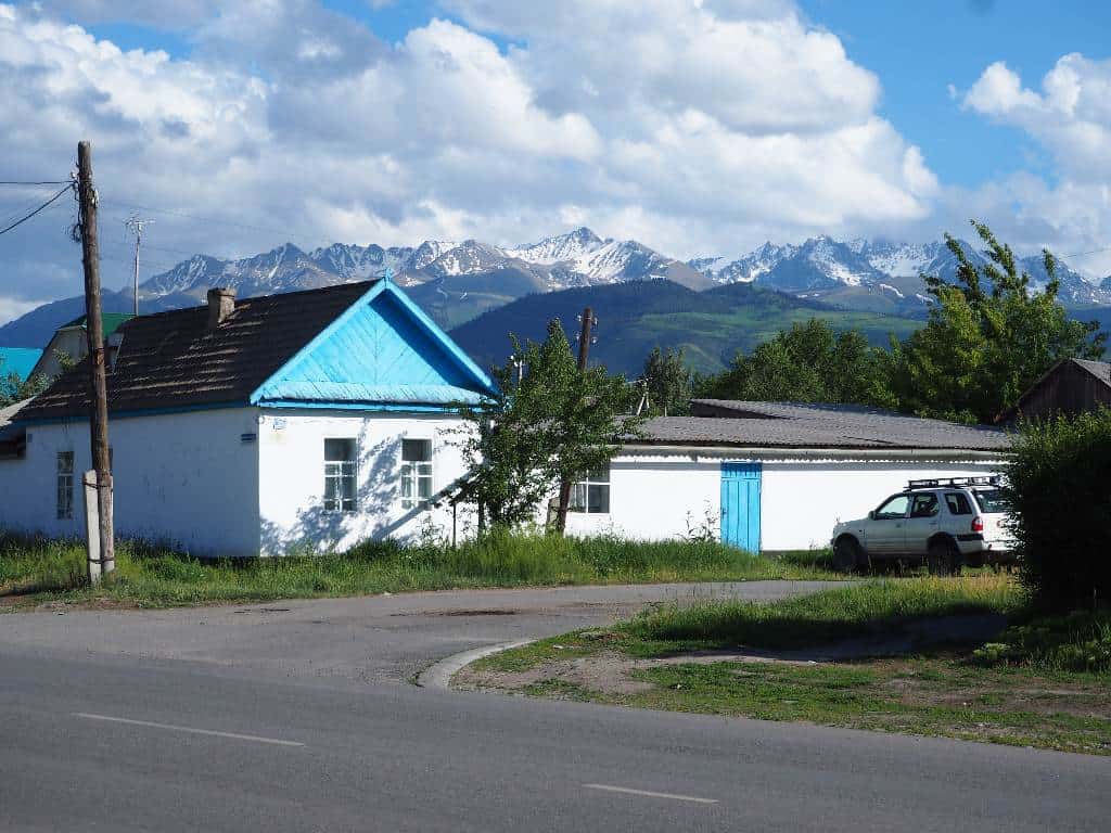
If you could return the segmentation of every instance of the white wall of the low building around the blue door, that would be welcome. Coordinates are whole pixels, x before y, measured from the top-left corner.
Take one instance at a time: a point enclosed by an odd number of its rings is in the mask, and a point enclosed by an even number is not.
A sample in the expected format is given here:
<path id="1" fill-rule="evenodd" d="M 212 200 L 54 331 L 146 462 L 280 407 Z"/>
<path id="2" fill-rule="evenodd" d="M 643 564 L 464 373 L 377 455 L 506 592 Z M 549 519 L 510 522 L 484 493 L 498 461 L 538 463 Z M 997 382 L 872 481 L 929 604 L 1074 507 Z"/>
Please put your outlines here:
<path id="1" fill-rule="evenodd" d="M 665 540 L 707 524 L 721 531 L 721 463 L 760 462 L 761 545 L 767 551 L 829 544 L 833 524 L 862 518 L 908 480 L 994 474 L 999 461 L 782 460 L 720 454 L 622 454 L 610 465 L 609 514 L 568 515 L 577 535 L 613 532 Z"/>

